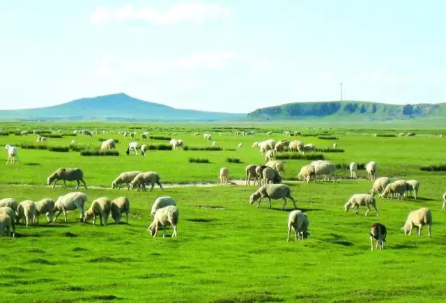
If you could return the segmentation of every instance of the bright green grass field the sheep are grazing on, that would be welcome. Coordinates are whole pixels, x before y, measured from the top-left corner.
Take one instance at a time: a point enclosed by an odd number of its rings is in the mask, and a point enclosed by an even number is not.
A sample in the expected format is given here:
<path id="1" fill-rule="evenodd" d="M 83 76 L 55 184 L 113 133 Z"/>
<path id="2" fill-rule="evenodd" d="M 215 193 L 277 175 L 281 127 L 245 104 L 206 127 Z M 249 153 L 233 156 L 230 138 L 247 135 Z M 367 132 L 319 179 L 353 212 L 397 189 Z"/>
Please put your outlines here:
<path id="1" fill-rule="evenodd" d="M 20 130 L 73 129 L 132 130 L 141 125 L 117 123 L 0 123 L 3 132 Z M 47 176 L 60 166 L 77 166 L 84 170 L 89 189 L 81 189 L 93 199 L 127 196 L 131 201 L 130 224 L 92 226 L 78 222 L 79 213 L 68 215 L 68 224 L 59 217 L 56 224 L 46 224 L 40 217 L 38 226 L 17 226 L 16 238 L 1 238 L 0 295 L 2 302 L 444 302 L 446 300 L 446 212 L 441 211 L 441 197 L 446 192 L 445 172 L 421 171 L 423 165 L 445 164 L 446 139 L 438 134 L 443 129 L 414 130 L 408 125 L 398 129 L 381 128 L 316 128 L 288 124 L 251 125 L 257 134 L 235 137 L 229 125 L 146 124 L 136 129 L 155 135 L 170 134 L 183 139 L 185 146 L 206 147 L 203 132 L 211 132 L 222 151 L 149 151 L 146 157 L 127 156 L 130 140 L 121 134 L 95 134 L 49 138 L 48 146 L 69 146 L 75 139 L 87 146 L 100 146 L 98 138 L 118 139 L 118 157 L 83 157 L 78 152 L 57 153 L 49 150 L 19 148 L 22 164 L 3 166 L 0 174 L 0 199 L 17 201 L 56 199 L 74 190 L 45 186 Z M 361 126 L 363 127 L 363 126 Z M 239 129 L 242 127 L 238 127 Z M 249 129 L 249 125 L 243 125 Z M 262 129 L 263 128 L 263 129 Z M 249 195 L 256 187 L 167 187 L 162 192 L 135 192 L 110 189 L 112 180 L 122 171 L 157 171 L 161 182 L 216 183 L 220 167 L 229 167 L 230 179 L 243 179 L 247 164 L 264 162 L 252 142 L 285 139 L 282 129 L 299 130 L 302 134 L 326 132 L 339 138 L 289 137 L 328 148 L 337 142 L 344 153 L 323 153 L 335 164 L 351 161 L 378 162 L 378 176 L 393 179 L 417 179 L 421 183 L 419 199 L 396 201 L 377 199 L 380 217 L 374 210 L 364 217 L 344 212 L 343 205 L 351 194 L 368 192 L 366 180 L 346 180 L 348 171 L 338 170 L 341 179 L 332 182 L 291 182 L 298 208 L 310 220 L 311 237 L 301 242 L 286 242 L 287 211 L 275 201 L 261 208 L 249 205 Z M 192 132 L 199 131 L 197 137 Z M 398 134 L 416 132 L 417 137 L 374 137 L 374 133 Z M 219 133 L 222 134 L 219 134 Z M 176 135 L 172 135 L 176 133 Z M 35 135 L 0 136 L 0 144 L 34 143 Z M 168 141 L 149 140 L 160 144 Z M 206 158 L 209 164 L 190 163 L 190 157 Z M 238 158 L 241 164 L 228 163 Z M 6 150 L 0 154 L 6 162 Z M 286 179 L 295 180 L 308 160 L 285 160 Z M 364 178 L 365 171 L 358 176 Z M 284 181 L 285 183 L 287 181 Z M 98 187 L 95 187 L 98 186 Z M 99 188 L 100 187 L 100 188 Z M 151 223 L 150 208 L 158 196 L 172 196 L 180 210 L 178 238 L 151 238 L 146 232 Z M 426 230 L 422 237 L 407 236 L 400 230 L 408 212 L 422 206 L 433 214 L 432 237 Z M 387 226 L 384 251 L 370 251 L 371 223 Z M 171 234 L 171 228 L 168 228 Z"/>

